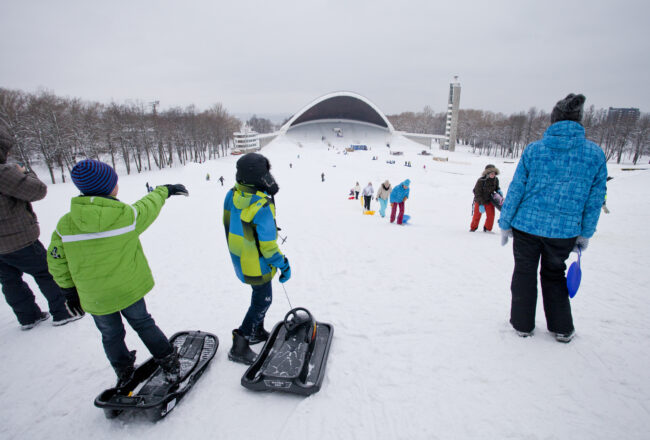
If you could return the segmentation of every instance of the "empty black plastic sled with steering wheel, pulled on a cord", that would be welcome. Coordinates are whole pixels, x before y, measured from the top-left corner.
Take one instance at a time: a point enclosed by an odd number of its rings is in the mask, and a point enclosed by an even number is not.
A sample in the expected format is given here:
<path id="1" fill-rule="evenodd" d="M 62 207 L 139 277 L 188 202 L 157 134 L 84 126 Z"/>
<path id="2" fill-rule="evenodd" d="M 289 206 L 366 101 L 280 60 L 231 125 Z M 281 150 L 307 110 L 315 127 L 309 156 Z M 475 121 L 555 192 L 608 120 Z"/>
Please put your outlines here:
<path id="1" fill-rule="evenodd" d="M 285 391 L 308 396 L 325 377 L 334 327 L 316 322 L 309 310 L 290 310 L 278 322 L 241 384 L 254 391 Z"/>

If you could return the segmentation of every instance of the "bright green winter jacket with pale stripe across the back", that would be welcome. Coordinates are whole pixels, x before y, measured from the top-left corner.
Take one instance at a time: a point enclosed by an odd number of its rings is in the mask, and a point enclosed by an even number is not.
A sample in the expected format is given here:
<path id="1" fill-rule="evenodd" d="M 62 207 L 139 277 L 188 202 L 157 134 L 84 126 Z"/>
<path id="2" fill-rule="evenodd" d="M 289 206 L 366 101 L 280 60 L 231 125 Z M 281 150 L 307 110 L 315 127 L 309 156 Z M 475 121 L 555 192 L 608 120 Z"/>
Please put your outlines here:
<path id="1" fill-rule="evenodd" d="M 93 315 L 118 312 L 154 285 L 139 236 L 167 200 L 159 186 L 132 206 L 109 197 L 72 199 L 52 233 L 47 263 L 62 288 L 76 287 L 81 307 Z"/>

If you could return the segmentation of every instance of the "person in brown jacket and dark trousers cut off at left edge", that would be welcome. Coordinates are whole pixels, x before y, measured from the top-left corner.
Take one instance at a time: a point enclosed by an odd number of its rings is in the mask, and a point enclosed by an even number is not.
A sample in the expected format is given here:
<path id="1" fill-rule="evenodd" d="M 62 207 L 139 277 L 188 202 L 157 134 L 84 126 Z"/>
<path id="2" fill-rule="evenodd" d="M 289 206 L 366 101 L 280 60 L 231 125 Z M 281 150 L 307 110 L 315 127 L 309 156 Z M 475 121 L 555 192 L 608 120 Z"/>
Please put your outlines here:
<path id="1" fill-rule="evenodd" d="M 47 268 L 45 247 L 39 241 L 40 228 L 31 202 L 47 194 L 47 186 L 36 174 L 20 165 L 7 164 L 13 140 L 0 133 L 0 283 L 7 304 L 13 309 L 22 330 L 29 330 L 52 315 L 52 325 L 60 326 L 84 315 L 81 308 L 67 304 L 61 289 Z M 50 313 L 36 304 L 34 293 L 23 274 L 34 277 L 47 299 Z"/>

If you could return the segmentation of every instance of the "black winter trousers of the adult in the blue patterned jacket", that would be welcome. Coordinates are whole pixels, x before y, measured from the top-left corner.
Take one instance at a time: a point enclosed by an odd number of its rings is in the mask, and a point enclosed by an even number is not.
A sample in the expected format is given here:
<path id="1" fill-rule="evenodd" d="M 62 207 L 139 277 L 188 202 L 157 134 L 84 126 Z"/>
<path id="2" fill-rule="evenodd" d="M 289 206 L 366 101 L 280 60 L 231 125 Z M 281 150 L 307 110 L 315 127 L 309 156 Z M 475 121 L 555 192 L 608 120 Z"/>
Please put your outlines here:
<path id="1" fill-rule="evenodd" d="M 546 238 L 512 229 L 512 250 L 515 256 L 515 270 L 510 290 L 512 305 L 510 323 L 522 332 L 535 328 L 537 307 L 537 266 L 540 258 L 540 278 L 546 327 L 554 333 L 573 331 L 573 317 L 566 286 L 566 264 L 576 237 Z"/>

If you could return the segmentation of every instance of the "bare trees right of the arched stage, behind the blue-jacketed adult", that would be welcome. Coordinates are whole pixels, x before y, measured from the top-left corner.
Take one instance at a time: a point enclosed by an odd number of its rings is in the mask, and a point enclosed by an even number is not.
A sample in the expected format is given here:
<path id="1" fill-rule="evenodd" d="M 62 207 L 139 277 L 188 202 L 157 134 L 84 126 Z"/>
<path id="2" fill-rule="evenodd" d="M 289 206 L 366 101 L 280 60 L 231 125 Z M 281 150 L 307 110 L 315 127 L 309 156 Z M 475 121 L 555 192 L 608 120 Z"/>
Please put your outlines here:
<path id="1" fill-rule="evenodd" d="M 410 133 L 444 134 L 446 113 L 434 113 L 425 107 L 418 113 L 389 115 L 396 130 Z M 551 123 L 550 114 L 536 108 L 528 112 L 504 115 L 483 110 L 460 110 L 457 142 L 468 144 L 478 154 L 519 157 L 529 143 L 541 139 Z M 650 154 L 650 114 L 638 120 L 617 121 L 608 110 L 585 109 L 582 119 L 587 138 L 601 146 L 607 160 L 620 163 L 629 157 L 633 163 Z"/>

